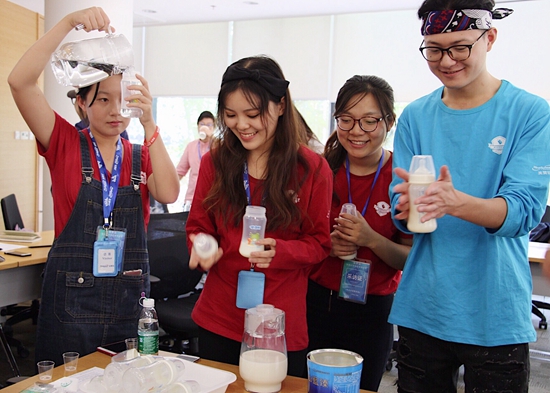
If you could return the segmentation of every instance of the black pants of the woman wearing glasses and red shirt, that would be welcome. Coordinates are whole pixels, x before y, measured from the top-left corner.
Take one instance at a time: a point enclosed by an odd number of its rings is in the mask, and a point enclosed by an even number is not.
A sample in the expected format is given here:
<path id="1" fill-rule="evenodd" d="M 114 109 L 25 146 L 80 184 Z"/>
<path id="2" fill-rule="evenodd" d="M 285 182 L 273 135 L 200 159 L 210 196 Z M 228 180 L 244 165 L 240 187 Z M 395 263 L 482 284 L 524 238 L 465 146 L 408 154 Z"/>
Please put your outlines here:
<path id="1" fill-rule="evenodd" d="M 366 304 L 348 302 L 313 281 L 307 293 L 309 350 L 345 349 L 363 357 L 361 389 L 377 391 L 393 344 L 388 315 L 393 294 L 368 295 Z"/>

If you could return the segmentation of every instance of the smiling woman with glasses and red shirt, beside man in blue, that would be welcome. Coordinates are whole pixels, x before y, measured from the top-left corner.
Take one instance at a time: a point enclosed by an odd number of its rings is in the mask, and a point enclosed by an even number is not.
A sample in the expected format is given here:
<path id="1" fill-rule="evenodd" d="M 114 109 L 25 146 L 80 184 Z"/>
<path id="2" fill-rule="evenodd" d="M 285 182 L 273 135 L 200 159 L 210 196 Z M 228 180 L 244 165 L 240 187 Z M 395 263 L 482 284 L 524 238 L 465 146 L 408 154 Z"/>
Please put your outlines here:
<path id="1" fill-rule="evenodd" d="M 334 117 L 324 152 L 334 173 L 332 251 L 310 275 L 309 350 L 357 352 L 361 389 L 377 391 L 393 344 L 388 315 L 411 244 L 391 218 L 392 153 L 382 147 L 395 122 L 393 89 L 377 76 L 355 75 L 338 92 Z M 343 203 L 354 203 L 357 216 L 340 215 Z M 359 265 L 340 259 L 355 252 Z M 344 294 L 348 266 L 368 283 L 360 298 Z"/>

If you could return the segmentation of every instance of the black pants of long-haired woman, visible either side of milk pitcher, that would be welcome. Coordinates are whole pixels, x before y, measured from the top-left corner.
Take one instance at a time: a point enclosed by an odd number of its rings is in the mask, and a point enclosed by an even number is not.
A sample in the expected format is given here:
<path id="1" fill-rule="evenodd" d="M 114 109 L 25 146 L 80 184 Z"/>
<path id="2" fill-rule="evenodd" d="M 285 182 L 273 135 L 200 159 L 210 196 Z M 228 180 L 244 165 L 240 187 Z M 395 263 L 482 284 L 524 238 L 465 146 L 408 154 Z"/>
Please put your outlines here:
<path id="1" fill-rule="evenodd" d="M 241 342 L 212 333 L 199 327 L 199 356 L 216 362 L 239 364 Z M 287 375 L 302 377 L 306 369 L 307 350 L 289 351 Z"/>

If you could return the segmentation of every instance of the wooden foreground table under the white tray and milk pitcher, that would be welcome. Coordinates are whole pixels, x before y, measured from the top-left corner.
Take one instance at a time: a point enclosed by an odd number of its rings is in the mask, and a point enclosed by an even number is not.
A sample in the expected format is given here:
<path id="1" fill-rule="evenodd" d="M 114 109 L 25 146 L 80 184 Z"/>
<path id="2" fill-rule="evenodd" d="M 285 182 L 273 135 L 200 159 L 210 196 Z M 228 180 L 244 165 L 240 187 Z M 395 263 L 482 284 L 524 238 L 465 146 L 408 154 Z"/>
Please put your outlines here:
<path id="1" fill-rule="evenodd" d="M 161 353 L 161 355 L 165 355 L 167 353 Z M 81 359 L 78 360 L 78 370 L 77 371 L 84 371 L 92 367 L 101 367 L 105 368 L 107 364 L 111 362 L 111 357 L 108 355 L 105 355 L 100 352 L 94 352 L 90 355 L 84 356 Z M 219 370 L 225 370 L 232 372 L 237 376 L 237 380 L 230 384 L 227 387 L 226 392 L 227 393 L 242 393 L 246 392 L 244 390 L 244 381 L 239 375 L 239 366 L 235 366 L 232 364 L 226 364 L 226 363 L 219 363 L 214 362 L 211 360 L 201 359 L 198 361 L 199 364 L 203 366 L 213 367 L 217 368 Z M 53 380 L 62 378 L 64 376 L 65 370 L 63 365 L 58 366 L 54 369 L 53 372 Z M 28 388 L 29 386 L 32 386 L 36 381 L 38 380 L 38 376 L 30 377 L 28 379 L 25 379 L 24 381 L 21 381 L 15 385 L 8 386 L 7 388 L 0 389 L 2 393 L 19 393 L 23 389 Z M 291 377 L 288 376 L 283 382 L 283 387 L 281 389 L 281 392 L 283 393 L 307 393 L 307 379 L 304 378 L 298 378 L 298 377 Z M 362 393 L 369 393 L 368 390 L 360 390 Z M 370 392 L 372 393 L 372 392 Z"/>

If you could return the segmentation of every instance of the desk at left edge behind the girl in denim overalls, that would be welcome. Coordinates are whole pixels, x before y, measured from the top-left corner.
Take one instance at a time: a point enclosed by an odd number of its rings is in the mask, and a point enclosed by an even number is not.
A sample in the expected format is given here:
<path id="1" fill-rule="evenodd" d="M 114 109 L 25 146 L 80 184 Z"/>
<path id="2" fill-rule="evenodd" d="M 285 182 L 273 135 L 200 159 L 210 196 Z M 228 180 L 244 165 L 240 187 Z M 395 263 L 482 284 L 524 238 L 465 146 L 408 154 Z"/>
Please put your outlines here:
<path id="1" fill-rule="evenodd" d="M 15 243 L 24 248 L 22 251 L 28 251 L 30 257 L 16 257 L 13 255 L 4 255 L 4 262 L 0 262 L 0 307 L 10 304 L 27 302 L 38 299 L 42 288 L 42 270 L 43 264 L 48 258 L 50 247 L 28 248 L 28 246 L 39 246 L 52 244 L 54 231 L 46 231 L 40 234 L 41 240 L 33 243 Z M 10 242 L 11 243 L 11 242 Z"/>

